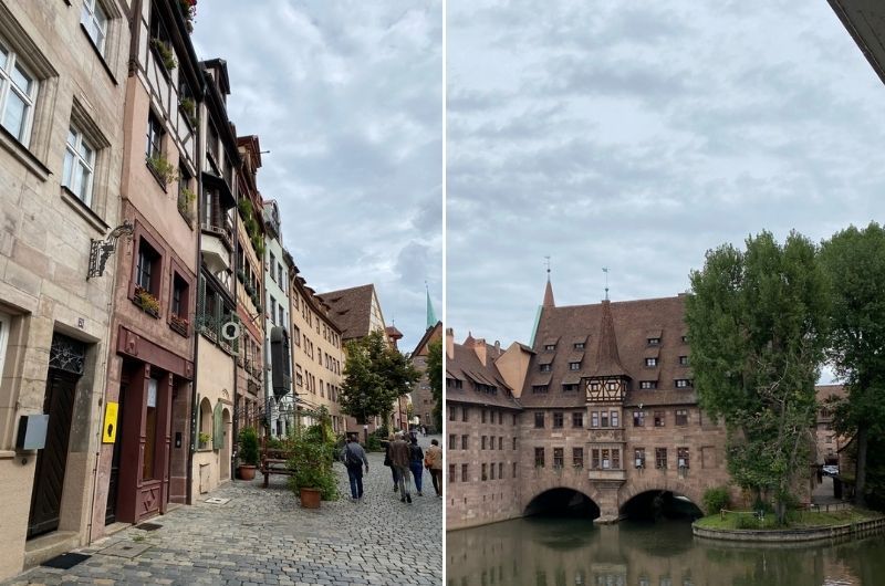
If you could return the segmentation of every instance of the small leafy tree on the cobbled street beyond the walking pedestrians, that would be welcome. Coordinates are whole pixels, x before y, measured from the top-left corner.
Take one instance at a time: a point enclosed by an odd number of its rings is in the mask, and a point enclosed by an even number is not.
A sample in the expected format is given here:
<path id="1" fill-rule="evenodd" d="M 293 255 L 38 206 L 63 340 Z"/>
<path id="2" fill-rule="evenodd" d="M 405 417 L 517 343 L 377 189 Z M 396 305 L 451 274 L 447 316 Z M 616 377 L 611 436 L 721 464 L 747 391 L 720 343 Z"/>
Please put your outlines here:
<path id="1" fill-rule="evenodd" d="M 348 342 L 346 349 L 342 410 L 360 420 L 382 416 L 386 422 L 394 401 L 410 393 L 420 375 L 406 356 L 387 344 L 381 331 Z"/>

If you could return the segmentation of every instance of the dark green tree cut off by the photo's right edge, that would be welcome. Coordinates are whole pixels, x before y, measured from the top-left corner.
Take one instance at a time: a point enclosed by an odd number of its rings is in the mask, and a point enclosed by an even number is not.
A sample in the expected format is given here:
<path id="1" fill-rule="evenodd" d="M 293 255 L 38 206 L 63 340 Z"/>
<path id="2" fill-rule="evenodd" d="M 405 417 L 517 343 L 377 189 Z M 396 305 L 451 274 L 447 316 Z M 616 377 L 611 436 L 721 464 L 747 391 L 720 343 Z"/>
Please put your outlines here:
<path id="1" fill-rule="evenodd" d="M 873 488 L 867 460 L 878 453 L 868 448 L 885 439 L 885 229 L 871 222 L 842 230 L 823 243 L 820 259 L 832 299 L 827 356 L 847 389 L 846 399 L 833 406 L 834 422 L 857 443 L 854 499 L 866 506 Z"/>

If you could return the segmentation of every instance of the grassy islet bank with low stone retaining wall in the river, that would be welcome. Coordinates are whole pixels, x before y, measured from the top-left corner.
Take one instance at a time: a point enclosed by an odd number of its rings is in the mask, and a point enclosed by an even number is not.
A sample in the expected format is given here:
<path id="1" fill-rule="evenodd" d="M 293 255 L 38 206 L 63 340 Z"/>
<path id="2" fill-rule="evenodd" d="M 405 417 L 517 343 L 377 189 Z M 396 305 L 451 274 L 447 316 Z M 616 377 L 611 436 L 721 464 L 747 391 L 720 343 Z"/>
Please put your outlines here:
<path id="1" fill-rule="evenodd" d="M 787 527 L 774 525 L 773 515 L 729 512 L 699 519 L 691 524 L 698 537 L 739 542 L 808 542 L 885 531 L 885 515 L 848 509 L 833 512 L 798 511 Z"/>

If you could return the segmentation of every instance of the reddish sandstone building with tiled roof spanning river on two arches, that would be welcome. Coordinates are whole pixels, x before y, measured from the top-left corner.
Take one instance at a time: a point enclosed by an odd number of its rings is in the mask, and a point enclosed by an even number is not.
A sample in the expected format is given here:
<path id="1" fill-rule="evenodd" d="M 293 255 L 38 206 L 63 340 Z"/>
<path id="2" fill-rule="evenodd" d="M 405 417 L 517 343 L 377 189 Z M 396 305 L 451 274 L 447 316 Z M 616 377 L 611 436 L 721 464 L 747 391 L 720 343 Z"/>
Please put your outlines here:
<path id="1" fill-rule="evenodd" d="M 693 388 L 684 302 L 676 296 L 556 307 L 548 283 L 532 347 L 491 350 L 498 376 L 485 378 L 492 383 L 471 377 L 477 368 L 462 366 L 471 355 L 454 345 L 446 367 L 448 440 L 465 435 L 468 444 L 480 444 L 480 453 L 466 454 L 464 464 L 481 465 L 481 438 L 491 428 L 480 419 L 478 429 L 459 429 L 464 399 L 452 387 L 485 408 L 512 394 L 518 414 L 516 461 L 506 480 L 514 490 L 498 491 L 502 502 L 490 520 L 524 514 L 556 489 L 584 495 L 598 509 L 600 522 L 615 522 L 631 499 L 649 491 L 700 505 L 707 488 L 729 485 L 725 427 L 699 409 Z M 468 336 L 462 348 L 470 347 L 488 360 L 488 345 Z M 476 426 L 469 411 L 468 405 L 468 421 Z M 451 465 L 458 451 L 448 453 Z M 449 470 L 454 509 L 447 526 L 488 522 L 464 507 L 496 493 L 491 475 L 483 481 L 481 470 L 471 471 L 465 480 L 458 472 Z"/>

